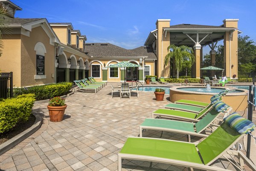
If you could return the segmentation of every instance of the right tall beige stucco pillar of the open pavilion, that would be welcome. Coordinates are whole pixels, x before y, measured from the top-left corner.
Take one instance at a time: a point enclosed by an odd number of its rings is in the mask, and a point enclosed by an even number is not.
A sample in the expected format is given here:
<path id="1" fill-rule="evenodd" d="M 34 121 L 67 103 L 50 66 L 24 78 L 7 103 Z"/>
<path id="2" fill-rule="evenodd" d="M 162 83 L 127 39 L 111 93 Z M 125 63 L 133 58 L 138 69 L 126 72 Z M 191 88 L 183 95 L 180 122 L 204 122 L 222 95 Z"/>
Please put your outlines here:
<path id="1" fill-rule="evenodd" d="M 238 21 L 224 21 L 224 27 L 234 27 L 238 28 Z M 230 41 L 230 44 L 229 44 Z M 230 63 L 230 50 L 231 50 L 231 63 Z M 231 77 L 233 75 L 238 75 L 238 31 L 234 31 L 230 39 L 230 32 L 226 32 L 224 35 L 224 63 L 226 63 L 226 76 Z M 226 57 L 226 58 L 225 58 Z M 234 65 L 231 69 L 230 66 Z"/>

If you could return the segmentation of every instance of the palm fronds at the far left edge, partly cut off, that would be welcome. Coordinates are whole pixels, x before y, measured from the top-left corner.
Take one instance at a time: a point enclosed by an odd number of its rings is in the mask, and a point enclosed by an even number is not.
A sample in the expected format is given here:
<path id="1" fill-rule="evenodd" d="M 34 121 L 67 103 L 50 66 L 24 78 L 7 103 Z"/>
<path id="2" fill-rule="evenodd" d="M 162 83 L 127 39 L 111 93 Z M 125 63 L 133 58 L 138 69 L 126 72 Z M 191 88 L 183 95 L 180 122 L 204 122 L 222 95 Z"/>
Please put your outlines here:
<path id="1" fill-rule="evenodd" d="M 9 33 L 10 28 L 7 26 L 9 23 L 8 9 L 3 3 L 0 3 L 0 56 L 3 53 L 3 32 Z"/>

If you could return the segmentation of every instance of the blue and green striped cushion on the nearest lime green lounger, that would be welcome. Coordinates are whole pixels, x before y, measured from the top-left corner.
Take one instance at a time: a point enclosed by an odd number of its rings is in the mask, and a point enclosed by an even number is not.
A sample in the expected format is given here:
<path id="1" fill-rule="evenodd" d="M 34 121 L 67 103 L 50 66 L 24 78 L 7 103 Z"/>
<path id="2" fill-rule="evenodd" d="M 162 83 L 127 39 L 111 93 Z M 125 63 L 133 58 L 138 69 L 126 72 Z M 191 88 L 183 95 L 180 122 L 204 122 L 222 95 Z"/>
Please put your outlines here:
<path id="1" fill-rule="evenodd" d="M 241 117 L 236 112 L 224 118 L 224 122 L 227 125 L 229 125 L 230 128 L 232 128 L 233 130 L 236 130 L 240 134 L 249 133 L 248 132 L 249 130 L 253 131 L 254 130 L 253 128 L 256 127 L 256 125 L 253 122 Z"/>

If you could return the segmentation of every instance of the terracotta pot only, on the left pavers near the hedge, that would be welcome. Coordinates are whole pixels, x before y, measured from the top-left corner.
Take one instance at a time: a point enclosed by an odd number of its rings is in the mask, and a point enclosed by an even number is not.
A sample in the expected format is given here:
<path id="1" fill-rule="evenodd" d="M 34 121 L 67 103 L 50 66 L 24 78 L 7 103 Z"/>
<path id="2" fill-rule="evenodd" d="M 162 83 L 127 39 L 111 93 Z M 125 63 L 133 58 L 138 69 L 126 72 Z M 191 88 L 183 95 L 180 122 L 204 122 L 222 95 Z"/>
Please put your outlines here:
<path id="1" fill-rule="evenodd" d="M 63 119 L 65 109 L 67 108 L 67 104 L 65 106 L 47 106 L 49 110 L 49 116 L 51 122 L 60 122 Z"/>

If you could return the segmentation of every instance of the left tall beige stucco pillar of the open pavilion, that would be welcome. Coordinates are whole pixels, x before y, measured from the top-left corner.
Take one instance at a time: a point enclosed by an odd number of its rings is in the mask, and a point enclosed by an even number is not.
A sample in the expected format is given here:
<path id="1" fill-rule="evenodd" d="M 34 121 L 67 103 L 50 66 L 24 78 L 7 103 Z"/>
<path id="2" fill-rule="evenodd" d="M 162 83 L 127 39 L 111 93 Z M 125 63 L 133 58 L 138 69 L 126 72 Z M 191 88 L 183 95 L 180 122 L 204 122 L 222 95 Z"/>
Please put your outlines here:
<path id="1" fill-rule="evenodd" d="M 170 21 L 157 21 L 157 77 L 169 77 L 167 72 L 162 73 L 164 70 L 164 58 L 168 54 L 167 47 L 170 46 L 170 34 L 163 35 L 163 27 L 169 27 Z M 163 35 L 163 47 L 162 47 L 162 35 Z M 163 48 L 163 54 L 162 54 Z"/>

